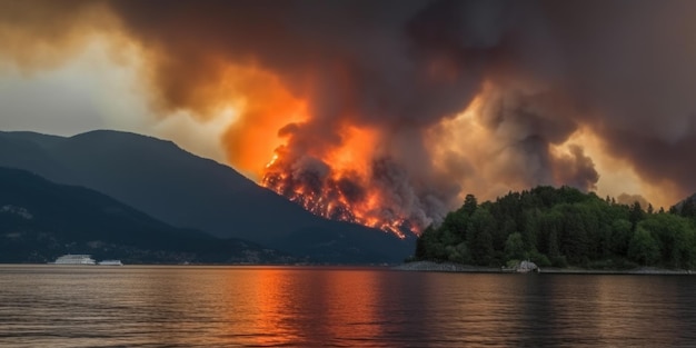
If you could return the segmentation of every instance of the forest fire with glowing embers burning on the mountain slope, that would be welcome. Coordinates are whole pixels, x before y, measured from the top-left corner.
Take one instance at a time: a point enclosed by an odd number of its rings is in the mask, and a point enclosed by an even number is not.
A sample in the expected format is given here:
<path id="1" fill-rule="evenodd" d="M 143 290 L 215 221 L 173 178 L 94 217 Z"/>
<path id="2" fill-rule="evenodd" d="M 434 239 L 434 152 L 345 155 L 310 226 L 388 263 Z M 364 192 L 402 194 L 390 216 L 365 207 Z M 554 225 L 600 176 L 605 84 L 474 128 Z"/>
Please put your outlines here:
<path id="1" fill-rule="evenodd" d="M 302 206 L 308 211 L 327 219 L 359 223 L 401 238 L 405 232 L 419 233 L 424 228 L 398 211 L 380 189 L 380 168 L 386 159 L 366 162 L 371 153 L 371 137 L 367 132 L 349 131 L 352 137 L 334 151 L 315 151 L 292 156 L 280 147 L 266 166 L 261 185 Z M 324 155 L 330 160 L 317 158 Z M 381 163 L 381 166 L 380 166 Z"/>

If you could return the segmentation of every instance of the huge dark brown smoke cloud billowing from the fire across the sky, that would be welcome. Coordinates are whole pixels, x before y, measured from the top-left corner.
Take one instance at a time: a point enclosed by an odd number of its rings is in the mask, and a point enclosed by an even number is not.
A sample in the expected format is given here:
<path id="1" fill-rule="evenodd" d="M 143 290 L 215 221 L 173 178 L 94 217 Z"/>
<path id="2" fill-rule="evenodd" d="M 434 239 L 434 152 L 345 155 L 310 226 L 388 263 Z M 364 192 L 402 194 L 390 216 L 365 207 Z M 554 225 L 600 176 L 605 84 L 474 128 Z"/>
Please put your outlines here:
<path id="1" fill-rule="evenodd" d="M 481 185 L 595 188 L 583 146 L 557 150 L 580 128 L 644 179 L 696 190 L 690 0 L 106 3 L 149 52 L 165 108 L 209 112 L 220 96 L 201 91 L 223 83 L 228 64 L 269 71 L 307 100 L 309 119 L 280 130 L 288 143 L 274 170 L 326 186 L 324 156 L 346 128 L 377 131 L 371 177 L 331 187 L 360 200 L 371 185 L 385 213 L 419 227 Z M 476 143 L 469 123 L 447 121 L 481 93 L 474 121 L 488 138 Z"/>

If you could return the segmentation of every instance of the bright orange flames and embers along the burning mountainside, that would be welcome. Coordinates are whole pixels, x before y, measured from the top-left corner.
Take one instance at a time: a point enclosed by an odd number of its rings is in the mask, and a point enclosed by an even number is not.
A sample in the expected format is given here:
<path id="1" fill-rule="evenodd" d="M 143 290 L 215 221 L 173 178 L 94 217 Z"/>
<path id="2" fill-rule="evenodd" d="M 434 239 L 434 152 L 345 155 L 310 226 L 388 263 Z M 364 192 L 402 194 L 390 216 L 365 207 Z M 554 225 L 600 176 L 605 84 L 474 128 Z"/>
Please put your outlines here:
<path id="1" fill-rule="evenodd" d="M 317 173 L 309 180 L 297 177 L 289 169 L 292 165 L 286 161 L 285 148 L 279 147 L 266 165 L 261 185 L 328 219 L 381 229 L 401 238 L 405 228 L 418 232 L 407 217 L 385 211 L 384 192 L 369 182 L 377 133 L 347 127 L 344 138 L 340 147 L 311 153 L 322 156 L 319 160 L 327 165 L 328 172 Z"/>

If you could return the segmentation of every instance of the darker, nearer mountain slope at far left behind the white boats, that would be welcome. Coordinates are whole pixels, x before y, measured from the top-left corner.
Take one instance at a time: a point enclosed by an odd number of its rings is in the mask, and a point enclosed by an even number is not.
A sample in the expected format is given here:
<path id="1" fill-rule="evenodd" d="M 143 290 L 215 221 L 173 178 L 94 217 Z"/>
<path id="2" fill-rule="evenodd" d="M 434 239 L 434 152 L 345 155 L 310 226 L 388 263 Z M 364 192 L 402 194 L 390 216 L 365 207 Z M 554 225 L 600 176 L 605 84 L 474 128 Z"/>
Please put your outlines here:
<path id="1" fill-rule="evenodd" d="M 140 262 L 295 260 L 252 242 L 173 228 L 90 189 L 0 167 L 0 261 L 91 253 Z"/>

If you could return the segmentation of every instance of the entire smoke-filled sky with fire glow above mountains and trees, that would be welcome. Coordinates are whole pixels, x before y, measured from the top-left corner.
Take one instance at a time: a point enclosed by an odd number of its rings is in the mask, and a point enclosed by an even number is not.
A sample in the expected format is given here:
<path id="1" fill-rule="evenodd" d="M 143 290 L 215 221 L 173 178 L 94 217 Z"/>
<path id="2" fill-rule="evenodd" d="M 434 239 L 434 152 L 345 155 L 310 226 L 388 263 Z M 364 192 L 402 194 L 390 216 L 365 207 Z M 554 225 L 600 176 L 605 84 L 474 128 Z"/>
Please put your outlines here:
<path id="1" fill-rule="evenodd" d="M 6 1 L 0 129 L 173 140 L 308 209 L 696 192 L 696 2 Z"/>

